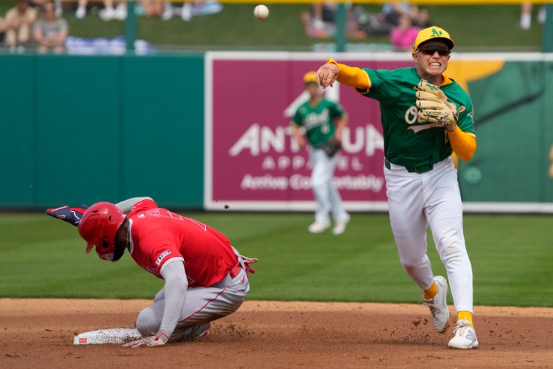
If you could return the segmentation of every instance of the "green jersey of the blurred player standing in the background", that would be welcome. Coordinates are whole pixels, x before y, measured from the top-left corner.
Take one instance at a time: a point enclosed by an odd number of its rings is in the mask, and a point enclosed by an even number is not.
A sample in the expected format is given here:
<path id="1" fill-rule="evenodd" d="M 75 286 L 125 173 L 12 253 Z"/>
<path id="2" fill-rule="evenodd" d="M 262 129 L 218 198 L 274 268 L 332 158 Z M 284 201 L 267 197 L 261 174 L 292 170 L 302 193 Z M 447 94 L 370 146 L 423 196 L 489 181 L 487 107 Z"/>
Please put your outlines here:
<path id="1" fill-rule="evenodd" d="M 292 123 L 305 127 L 306 135 L 312 147 L 321 147 L 335 134 L 334 120 L 344 115 L 344 108 L 337 102 L 322 98 L 317 106 L 304 102 L 294 114 Z"/>

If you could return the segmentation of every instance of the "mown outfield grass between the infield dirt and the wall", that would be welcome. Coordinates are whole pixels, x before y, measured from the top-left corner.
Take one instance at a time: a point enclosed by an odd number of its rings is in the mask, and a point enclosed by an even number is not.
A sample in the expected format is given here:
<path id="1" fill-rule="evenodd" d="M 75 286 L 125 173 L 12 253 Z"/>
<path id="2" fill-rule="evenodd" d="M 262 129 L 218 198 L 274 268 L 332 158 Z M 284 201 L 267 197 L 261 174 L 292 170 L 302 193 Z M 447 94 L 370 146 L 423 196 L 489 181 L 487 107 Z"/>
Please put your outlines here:
<path id="1" fill-rule="evenodd" d="M 388 217 L 353 214 L 339 237 L 311 235 L 311 214 L 188 214 L 256 256 L 253 300 L 420 303 L 400 266 Z M 466 215 L 476 305 L 553 306 L 551 216 Z M 0 215 L 0 297 L 152 298 L 162 280 L 129 255 L 84 254 L 76 228 L 39 214 Z M 444 268 L 429 238 L 436 274 Z M 449 298 L 451 303 L 451 297 Z"/>

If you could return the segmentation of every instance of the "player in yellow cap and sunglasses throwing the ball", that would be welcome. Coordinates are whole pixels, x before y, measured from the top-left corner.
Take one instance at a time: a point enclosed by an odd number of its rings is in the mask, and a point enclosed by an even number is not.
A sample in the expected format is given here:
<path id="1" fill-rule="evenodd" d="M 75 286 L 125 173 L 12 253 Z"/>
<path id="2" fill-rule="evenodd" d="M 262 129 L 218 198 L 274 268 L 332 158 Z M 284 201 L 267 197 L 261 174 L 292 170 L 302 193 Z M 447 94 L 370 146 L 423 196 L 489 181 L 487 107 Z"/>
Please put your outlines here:
<path id="1" fill-rule="evenodd" d="M 434 276 L 427 227 L 447 271 L 457 323 L 449 347 L 478 347 L 472 312 L 472 268 L 462 231 L 462 203 L 452 152 L 463 161 L 476 150 L 473 107 L 444 72 L 453 39 L 440 27 L 420 30 L 414 68 L 359 69 L 330 59 L 319 68 L 321 86 L 337 80 L 380 103 L 388 210 L 400 262 L 423 291 L 438 332 L 449 323 L 447 280 Z"/>

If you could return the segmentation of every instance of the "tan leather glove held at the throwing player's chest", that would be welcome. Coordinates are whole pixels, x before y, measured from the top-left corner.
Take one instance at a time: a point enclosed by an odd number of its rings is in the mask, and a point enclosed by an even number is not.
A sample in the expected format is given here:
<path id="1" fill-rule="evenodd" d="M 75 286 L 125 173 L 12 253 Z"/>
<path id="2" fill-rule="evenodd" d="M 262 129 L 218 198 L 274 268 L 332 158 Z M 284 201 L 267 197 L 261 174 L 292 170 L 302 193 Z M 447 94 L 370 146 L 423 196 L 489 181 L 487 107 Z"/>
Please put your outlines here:
<path id="1" fill-rule="evenodd" d="M 447 96 L 440 87 L 427 80 L 419 81 L 417 107 L 419 117 L 426 122 L 452 125 L 456 124 L 459 118 L 456 105 L 447 102 Z"/>

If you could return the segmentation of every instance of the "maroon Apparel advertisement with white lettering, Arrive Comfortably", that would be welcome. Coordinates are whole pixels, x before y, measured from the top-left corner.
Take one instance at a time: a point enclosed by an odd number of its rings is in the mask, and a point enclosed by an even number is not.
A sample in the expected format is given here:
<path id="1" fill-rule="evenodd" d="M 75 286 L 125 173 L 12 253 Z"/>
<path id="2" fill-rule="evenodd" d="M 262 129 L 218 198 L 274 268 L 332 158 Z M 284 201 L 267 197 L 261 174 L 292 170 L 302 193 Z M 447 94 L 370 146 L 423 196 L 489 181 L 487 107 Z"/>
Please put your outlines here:
<path id="1" fill-rule="evenodd" d="M 308 150 L 300 149 L 290 117 L 308 100 L 303 75 L 324 57 L 243 53 L 206 57 L 205 208 L 210 210 L 312 210 Z M 341 60 L 355 65 L 355 60 Z M 364 62 L 395 69 L 411 62 Z M 349 116 L 335 170 L 347 210 L 386 210 L 384 141 L 375 100 L 335 84 L 324 90 Z"/>

